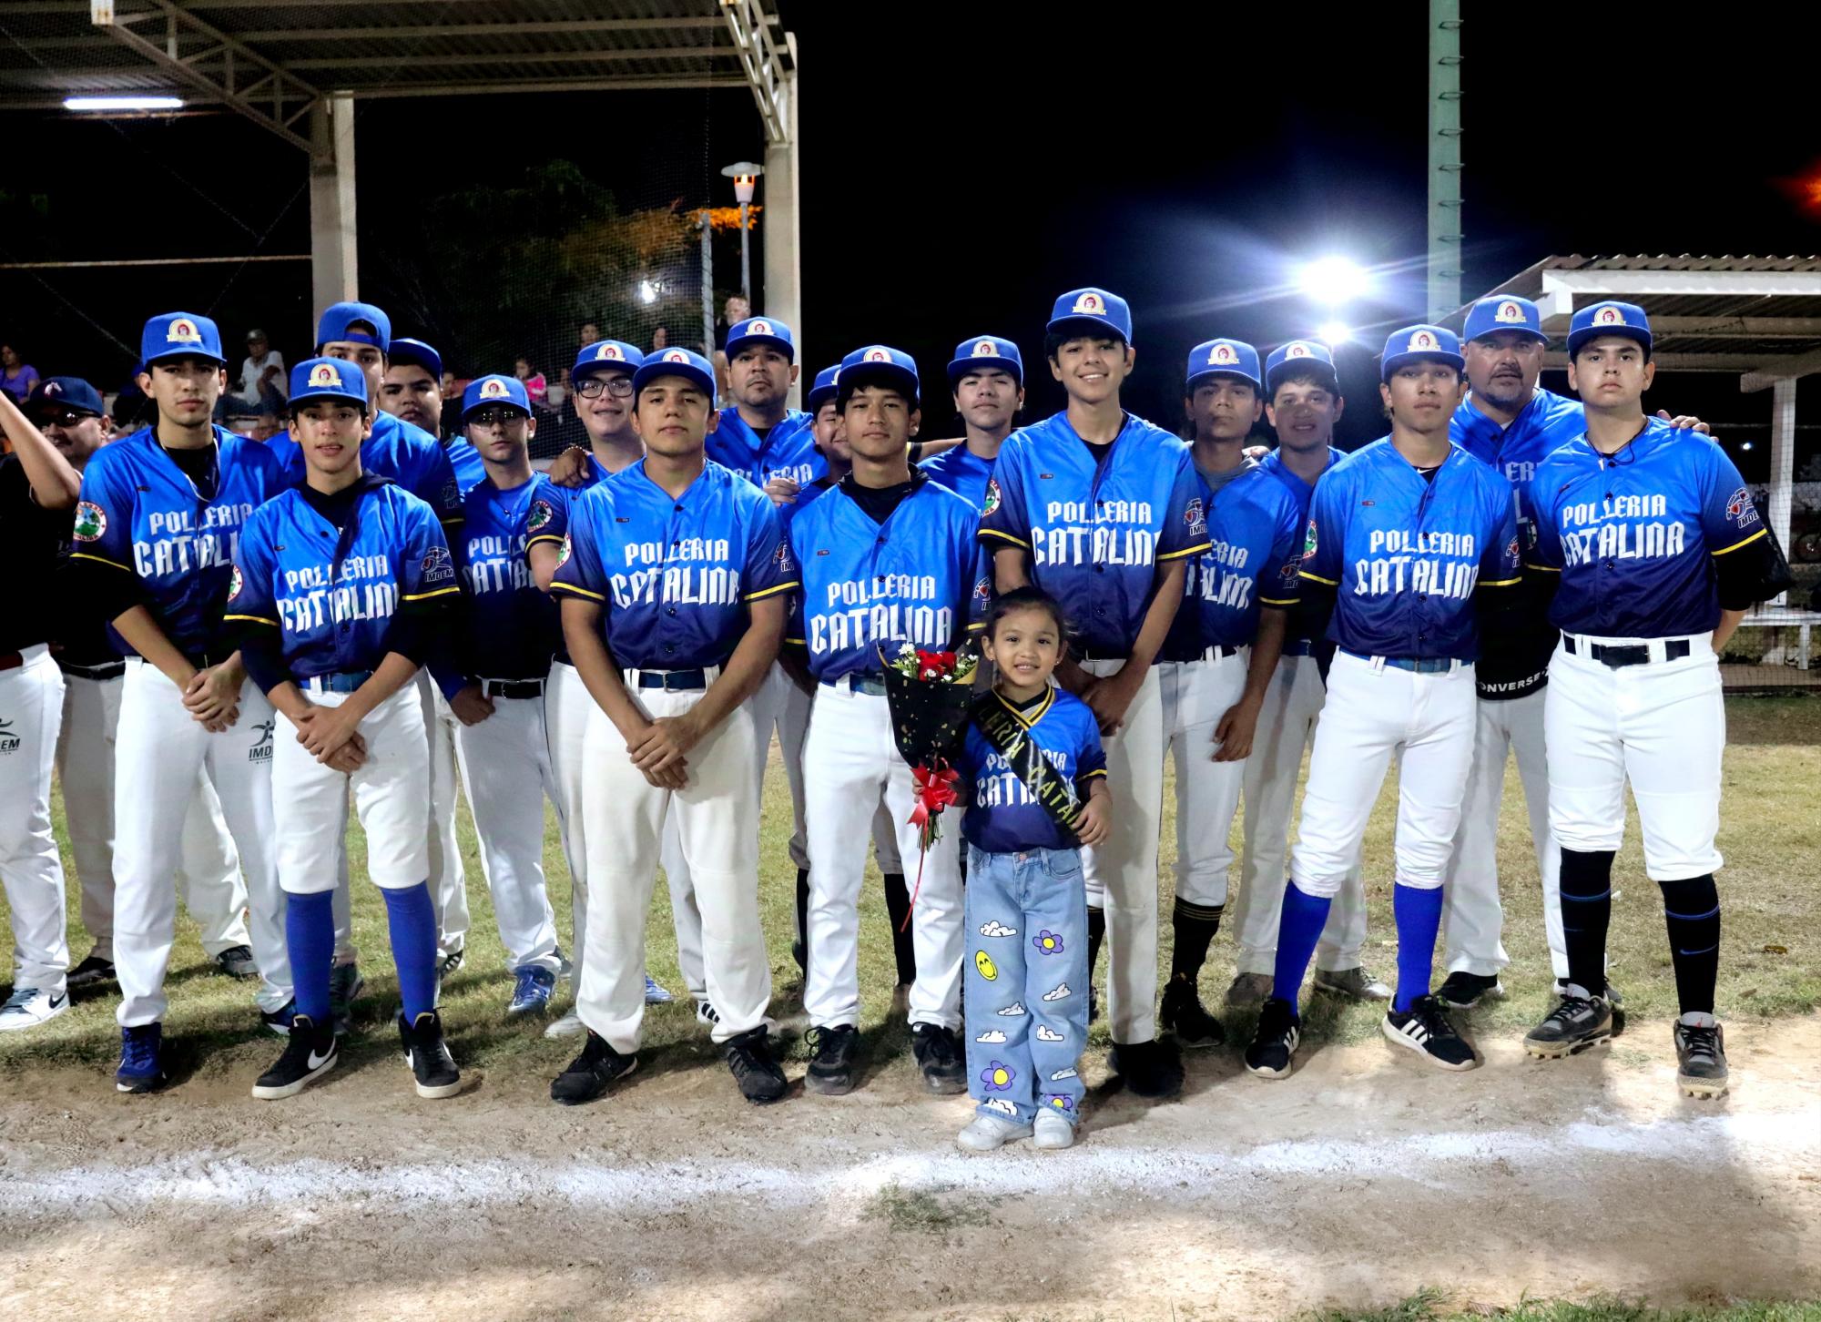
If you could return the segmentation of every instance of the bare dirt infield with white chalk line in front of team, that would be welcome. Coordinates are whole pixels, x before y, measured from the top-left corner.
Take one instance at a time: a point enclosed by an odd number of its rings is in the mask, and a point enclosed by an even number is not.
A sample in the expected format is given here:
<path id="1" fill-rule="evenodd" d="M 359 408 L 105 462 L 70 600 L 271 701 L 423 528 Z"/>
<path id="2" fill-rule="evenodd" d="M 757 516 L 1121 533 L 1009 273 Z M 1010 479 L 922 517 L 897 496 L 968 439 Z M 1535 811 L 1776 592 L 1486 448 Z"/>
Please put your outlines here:
<path id="1" fill-rule="evenodd" d="M 1071 1153 L 963 1156 L 907 1058 L 850 1098 L 739 1102 L 708 1045 L 565 1111 L 544 1076 L 410 1096 L 366 1034 L 293 1102 L 246 1047 L 162 1096 L 0 1083 L 7 1318 L 1211 1318 L 1599 1293 L 1821 1293 L 1821 1018 L 1728 1025 L 1679 1098 L 1666 1023 L 1471 1074 L 1384 1043 L 1280 1083 L 1233 1053 L 1136 1102 L 1087 1060 Z M 883 1054 L 883 1053 L 881 1053 Z M 244 1058 L 244 1060 L 242 1060 Z M 801 1065 L 792 1065 L 792 1076 Z"/>

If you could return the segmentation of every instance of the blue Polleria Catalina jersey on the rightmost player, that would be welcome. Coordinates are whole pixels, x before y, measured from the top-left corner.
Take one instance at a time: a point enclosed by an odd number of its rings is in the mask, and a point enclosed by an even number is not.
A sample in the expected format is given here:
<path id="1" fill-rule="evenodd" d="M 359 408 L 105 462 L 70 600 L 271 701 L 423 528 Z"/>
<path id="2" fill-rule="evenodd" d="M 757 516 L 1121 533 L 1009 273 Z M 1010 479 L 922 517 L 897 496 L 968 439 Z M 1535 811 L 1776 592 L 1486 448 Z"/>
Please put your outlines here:
<path id="1" fill-rule="evenodd" d="M 1655 417 L 1615 455 L 1570 441 L 1537 466 L 1530 499 L 1530 563 L 1562 575 L 1550 623 L 1564 634 L 1706 634 L 1719 623 L 1714 559 L 1765 535 L 1726 452 Z"/>

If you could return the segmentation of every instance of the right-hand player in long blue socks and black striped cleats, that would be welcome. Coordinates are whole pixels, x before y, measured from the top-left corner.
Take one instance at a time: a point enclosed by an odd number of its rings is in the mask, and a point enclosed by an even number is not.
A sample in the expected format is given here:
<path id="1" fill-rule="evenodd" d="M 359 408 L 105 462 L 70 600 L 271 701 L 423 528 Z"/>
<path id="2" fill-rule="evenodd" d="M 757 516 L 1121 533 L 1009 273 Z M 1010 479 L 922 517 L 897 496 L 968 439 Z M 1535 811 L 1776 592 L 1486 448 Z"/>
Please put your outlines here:
<path id="1" fill-rule="evenodd" d="M 1473 761 L 1473 661 L 1491 634 L 1480 615 L 1502 608 L 1493 594 L 1513 597 L 1521 577 L 1511 484 L 1448 439 L 1460 366 L 1453 331 L 1393 331 L 1378 388 L 1391 435 L 1348 455 L 1309 503 L 1307 632 L 1338 652 L 1284 890 L 1275 992 L 1246 1049 L 1246 1067 L 1264 1078 L 1295 1067 L 1302 974 L 1393 756 L 1397 991 L 1382 1031 L 1440 1069 L 1479 1063 L 1429 994 L 1429 971 Z"/>

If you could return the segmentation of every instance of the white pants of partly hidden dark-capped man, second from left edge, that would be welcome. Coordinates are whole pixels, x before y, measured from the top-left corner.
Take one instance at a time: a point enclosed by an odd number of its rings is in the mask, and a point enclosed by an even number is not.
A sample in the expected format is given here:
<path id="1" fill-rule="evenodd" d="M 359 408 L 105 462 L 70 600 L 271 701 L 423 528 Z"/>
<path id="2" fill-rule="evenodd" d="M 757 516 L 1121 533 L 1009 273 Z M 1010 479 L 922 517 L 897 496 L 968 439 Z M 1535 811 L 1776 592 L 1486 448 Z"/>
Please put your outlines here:
<path id="1" fill-rule="evenodd" d="M 113 961 L 113 785 L 122 685 L 122 676 L 66 674 L 64 727 L 56 736 L 56 779 L 64 787 L 69 856 L 82 885 L 82 927 L 93 941 L 89 954 L 107 961 Z M 213 958 L 249 945 L 240 858 L 208 774 L 197 776 L 197 792 L 184 812 L 178 858 L 177 881 L 202 951 Z"/>

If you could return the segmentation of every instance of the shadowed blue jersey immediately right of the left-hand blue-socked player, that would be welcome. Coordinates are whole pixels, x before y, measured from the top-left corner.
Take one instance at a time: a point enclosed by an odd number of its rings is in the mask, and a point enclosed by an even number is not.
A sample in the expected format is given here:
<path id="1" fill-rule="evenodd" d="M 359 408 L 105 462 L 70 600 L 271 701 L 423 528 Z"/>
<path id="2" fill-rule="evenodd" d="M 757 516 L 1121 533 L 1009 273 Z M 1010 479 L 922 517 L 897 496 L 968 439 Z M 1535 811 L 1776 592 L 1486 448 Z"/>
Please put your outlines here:
<path id="1" fill-rule="evenodd" d="M 464 654 L 477 679 L 543 679 L 563 648 L 557 603 L 532 577 L 530 548 L 561 548 L 568 535 L 565 492 L 543 473 L 499 490 L 484 481 L 463 501 Z"/>

